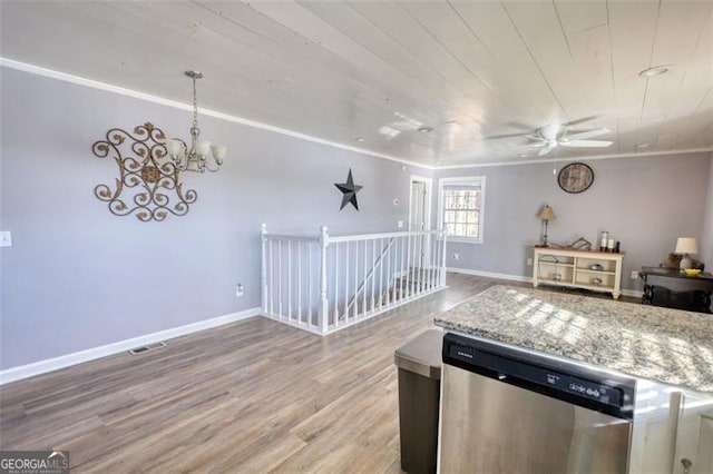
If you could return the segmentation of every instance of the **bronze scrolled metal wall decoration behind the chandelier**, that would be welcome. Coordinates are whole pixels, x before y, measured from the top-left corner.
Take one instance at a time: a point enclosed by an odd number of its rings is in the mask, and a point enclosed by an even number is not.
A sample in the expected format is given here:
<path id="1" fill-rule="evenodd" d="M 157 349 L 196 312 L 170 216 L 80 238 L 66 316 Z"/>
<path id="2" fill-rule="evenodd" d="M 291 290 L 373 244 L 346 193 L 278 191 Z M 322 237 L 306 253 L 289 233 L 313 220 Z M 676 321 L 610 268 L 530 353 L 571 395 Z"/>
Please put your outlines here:
<path id="1" fill-rule="evenodd" d="M 127 139 L 130 141 L 124 144 Z M 164 220 L 168 213 L 175 216 L 188 214 L 191 204 L 198 195 L 194 189 L 183 190 L 178 181 L 179 169 L 166 158 L 166 136 L 153 124 L 146 122 L 134 128 L 134 135 L 113 128 L 107 139 L 97 141 L 91 150 L 95 156 L 111 158 L 119 167 L 116 189 L 98 185 L 94 194 L 109 203 L 109 210 L 116 216 L 136 214 L 143 221 Z M 129 147 L 130 154 L 121 156 L 120 147 Z M 128 154 L 127 154 L 128 155 Z"/>

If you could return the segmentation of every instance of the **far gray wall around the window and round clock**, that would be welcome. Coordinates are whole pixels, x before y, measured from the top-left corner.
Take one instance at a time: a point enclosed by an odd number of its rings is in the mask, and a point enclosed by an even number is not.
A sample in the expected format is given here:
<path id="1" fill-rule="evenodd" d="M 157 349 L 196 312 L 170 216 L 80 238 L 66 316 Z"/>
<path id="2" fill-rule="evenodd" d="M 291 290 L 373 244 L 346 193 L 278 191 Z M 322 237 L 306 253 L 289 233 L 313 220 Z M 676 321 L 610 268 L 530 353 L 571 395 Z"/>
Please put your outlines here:
<path id="1" fill-rule="evenodd" d="M 626 289 L 642 289 L 638 280 L 629 278 L 631 270 L 658 265 L 673 251 L 677 237 L 703 236 L 707 189 L 713 181 L 710 152 L 586 162 L 594 169 L 595 181 L 578 195 L 559 188 L 551 162 L 437 171 L 437 178 L 487 177 L 485 241 L 449 244 L 447 265 L 531 276 L 526 260 L 531 246 L 540 241 L 537 215 L 544 204 L 557 216 L 549 223 L 550 241 L 570 244 L 584 237 L 596 245 L 598 233 L 608 230 L 622 243 L 626 254 L 622 287 Z M 564 165 L 558 162 L 557 170 Z M 702 246 L 709 248 L 710 234 L 704 240 Z M 459 260 L 453 254 L 459 254 Z"/>

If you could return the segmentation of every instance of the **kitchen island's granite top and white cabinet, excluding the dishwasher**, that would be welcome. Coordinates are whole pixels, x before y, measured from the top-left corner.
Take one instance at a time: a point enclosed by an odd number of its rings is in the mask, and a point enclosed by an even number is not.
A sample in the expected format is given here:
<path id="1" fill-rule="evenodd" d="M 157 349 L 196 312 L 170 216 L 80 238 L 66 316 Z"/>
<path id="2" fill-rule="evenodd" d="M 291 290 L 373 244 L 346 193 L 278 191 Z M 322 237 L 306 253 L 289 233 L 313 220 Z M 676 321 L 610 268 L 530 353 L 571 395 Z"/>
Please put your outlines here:
<path id="1" fill-rule="evenodd" d="M 434 323 L 525 353 L 633 376 L 627 471 L 683 473 L 692 460 L 692 473 L 713 472 L 711 315 L 495 286 Z"/>

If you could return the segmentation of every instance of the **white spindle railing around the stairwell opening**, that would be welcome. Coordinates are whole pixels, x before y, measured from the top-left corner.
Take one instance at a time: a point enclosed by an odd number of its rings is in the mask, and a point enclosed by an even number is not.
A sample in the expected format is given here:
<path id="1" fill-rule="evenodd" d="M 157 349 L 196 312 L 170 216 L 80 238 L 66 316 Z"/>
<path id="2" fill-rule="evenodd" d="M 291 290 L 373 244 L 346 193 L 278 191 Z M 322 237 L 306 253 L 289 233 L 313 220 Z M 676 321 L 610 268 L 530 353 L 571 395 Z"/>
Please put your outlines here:
<path id="1" fill-rule="evenodd" d="M 262 228 L 266 316 L 328 334 L 446 286 L 443 231 L 289 236 Z"/>

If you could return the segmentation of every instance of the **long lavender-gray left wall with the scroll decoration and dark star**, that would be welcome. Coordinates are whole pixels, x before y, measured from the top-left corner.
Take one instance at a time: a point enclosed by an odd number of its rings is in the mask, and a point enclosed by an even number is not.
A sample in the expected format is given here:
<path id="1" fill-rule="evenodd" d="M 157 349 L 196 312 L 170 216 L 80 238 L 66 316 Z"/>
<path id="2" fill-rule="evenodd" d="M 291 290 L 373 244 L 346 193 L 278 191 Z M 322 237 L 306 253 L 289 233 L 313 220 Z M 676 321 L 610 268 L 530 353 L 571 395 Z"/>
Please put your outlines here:
<path id="1" fill-rule="evenodd" d="M 213 175 L 185 174 L 198 200 L 184 217 L 116 217 L 94 197 L 117 176 L 91 145 L 152 121 L 187 138 L 191 112 L 0 69 L 2 145 L 0 368 L 14 367 L 260 306 L 260 225 L 316 234 L 394 231 L 409 176 L 430 171 L 217 119 L 228 146 Z M 188 98 L 187 98 L 188 99 Z M 349 168 L 360 211 L 340 211 Z M 400 206 L 392 204 L 399 198 Z M 245 296 L 235 297 L 235 285 Z"/>

